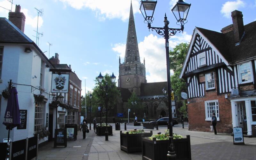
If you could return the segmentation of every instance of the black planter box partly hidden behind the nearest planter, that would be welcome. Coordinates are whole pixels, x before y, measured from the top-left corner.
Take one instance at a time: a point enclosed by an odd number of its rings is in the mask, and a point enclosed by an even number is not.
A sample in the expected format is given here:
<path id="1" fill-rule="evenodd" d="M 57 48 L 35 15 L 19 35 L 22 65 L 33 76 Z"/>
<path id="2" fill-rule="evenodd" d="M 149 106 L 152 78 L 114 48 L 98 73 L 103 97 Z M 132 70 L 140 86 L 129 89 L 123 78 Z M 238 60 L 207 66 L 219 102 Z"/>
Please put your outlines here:
<path id="1" fill-rule="evenodd" d="M 135 133 L 129 134 L 129 132 L 122 133 L 120 131 L 120 147 L 121 150 L 131 153 L 131 152 L 141 152 L 142 144 L 141 144 L 141 136 L 144 135 L 146 137 L 152 136 L 153 132 L 149 133 Z"/>

